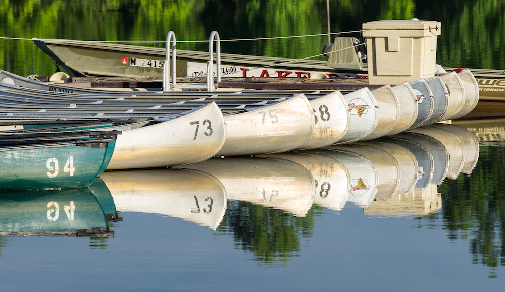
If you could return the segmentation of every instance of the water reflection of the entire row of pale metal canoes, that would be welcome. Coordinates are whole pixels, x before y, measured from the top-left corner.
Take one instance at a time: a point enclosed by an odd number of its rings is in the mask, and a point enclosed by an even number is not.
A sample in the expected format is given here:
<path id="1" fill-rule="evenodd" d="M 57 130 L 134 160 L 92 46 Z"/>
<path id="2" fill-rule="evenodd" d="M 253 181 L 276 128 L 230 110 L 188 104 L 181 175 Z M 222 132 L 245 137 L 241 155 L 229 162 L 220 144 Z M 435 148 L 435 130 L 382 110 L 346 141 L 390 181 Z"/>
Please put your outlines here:
<path id="1" fill-rule="evenodd" d="M 120 211 L 178 217 L 214 230 L 227 199 L 296 217 L 307 216 L 313 204 L 335 211 L 356 205 L 372 216 L 418 216 L 441 209 L 438 185 L 446 176 L 470 172 L 478 153 L 472 133 L 437 124 L 322 149 L 106 172 L 102 180 Z"/>

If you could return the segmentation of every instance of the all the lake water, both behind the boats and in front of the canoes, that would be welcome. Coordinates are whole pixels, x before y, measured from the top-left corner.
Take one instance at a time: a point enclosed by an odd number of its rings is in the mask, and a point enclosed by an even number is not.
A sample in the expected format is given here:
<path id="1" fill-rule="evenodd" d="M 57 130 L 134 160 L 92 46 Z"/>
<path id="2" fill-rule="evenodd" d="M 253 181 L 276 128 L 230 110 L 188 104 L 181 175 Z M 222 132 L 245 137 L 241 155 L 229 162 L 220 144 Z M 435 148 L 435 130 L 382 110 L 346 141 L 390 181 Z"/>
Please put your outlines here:
<path id="1" fill-rule="evenodd" d="M 379 19 L 438 20 L 438 63 L 504 69 L 503 10 L 485 0 L 331 0 L 330 24 L 337 32 Z M 161 41 L 169 30 L 178 40 L 212 30 L 232 39 L 325 33 L 326 13 L 324 0 L 0 0 L 0 28 L 29 39 Z M 306 57 L 326 42 L 222 49 Z M 0 43 L 0 69 L 31 74 L 30 41 Z M 33 60 L 34 73 L 54 73 L 36 47 Z M 460 126 L 422 130 L 432 138 L 106 172 L 81 191 L 3 194 L 2 290 L 501 289 L 505 130 L 502 122 Z M 107 226 L 88 237 L 33 236 Z"/>

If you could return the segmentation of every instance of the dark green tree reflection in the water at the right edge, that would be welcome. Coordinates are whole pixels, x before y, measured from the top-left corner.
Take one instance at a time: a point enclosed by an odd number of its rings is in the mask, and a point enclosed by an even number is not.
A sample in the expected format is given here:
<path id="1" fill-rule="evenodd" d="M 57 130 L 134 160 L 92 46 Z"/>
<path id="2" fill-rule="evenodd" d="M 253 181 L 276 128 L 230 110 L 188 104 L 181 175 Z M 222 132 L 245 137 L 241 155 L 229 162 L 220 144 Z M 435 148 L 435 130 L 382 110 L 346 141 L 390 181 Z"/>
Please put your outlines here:
<path id="1" fill-rule="evenodd" d="M 471 176 L 460 173 L 439 187 L 443 228 L 449 239 L 470 242 L 476 264 L 505 266 L 504 177 L 505 147 L 481 146 Z"/>

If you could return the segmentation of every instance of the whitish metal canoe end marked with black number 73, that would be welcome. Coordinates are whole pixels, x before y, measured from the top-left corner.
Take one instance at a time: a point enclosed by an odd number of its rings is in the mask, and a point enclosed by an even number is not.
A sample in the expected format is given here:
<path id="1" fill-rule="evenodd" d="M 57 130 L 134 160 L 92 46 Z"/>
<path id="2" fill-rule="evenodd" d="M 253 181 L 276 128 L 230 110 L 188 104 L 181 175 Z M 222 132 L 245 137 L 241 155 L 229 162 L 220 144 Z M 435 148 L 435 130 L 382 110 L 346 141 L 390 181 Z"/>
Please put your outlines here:
<path id="1" fill-rule="evenodd" d="M 213 102 L 119 136 L 107 169 L 164 167 L 209 159 L 224 145 L 226 129 L 221 110 Z"/>

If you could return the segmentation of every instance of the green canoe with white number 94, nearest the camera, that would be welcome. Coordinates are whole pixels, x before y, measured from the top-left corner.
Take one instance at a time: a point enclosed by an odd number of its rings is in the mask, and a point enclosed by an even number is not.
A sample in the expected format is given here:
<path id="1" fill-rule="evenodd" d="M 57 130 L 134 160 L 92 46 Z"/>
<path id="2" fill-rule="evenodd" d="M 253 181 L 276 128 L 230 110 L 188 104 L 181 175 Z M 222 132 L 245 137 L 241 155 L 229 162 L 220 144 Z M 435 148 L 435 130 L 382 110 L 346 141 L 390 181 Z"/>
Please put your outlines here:
<path id="1" fill-rule="evenodd" d="M 47 134 L 0 137 L 0 190 L 88 187 L 107 166 L 118 135 Z"/>

